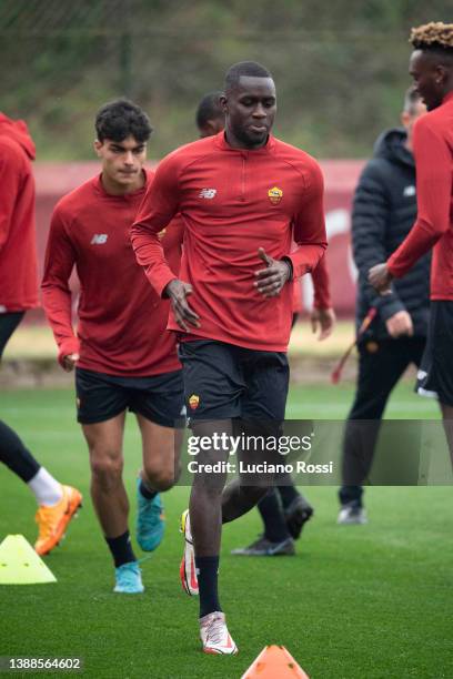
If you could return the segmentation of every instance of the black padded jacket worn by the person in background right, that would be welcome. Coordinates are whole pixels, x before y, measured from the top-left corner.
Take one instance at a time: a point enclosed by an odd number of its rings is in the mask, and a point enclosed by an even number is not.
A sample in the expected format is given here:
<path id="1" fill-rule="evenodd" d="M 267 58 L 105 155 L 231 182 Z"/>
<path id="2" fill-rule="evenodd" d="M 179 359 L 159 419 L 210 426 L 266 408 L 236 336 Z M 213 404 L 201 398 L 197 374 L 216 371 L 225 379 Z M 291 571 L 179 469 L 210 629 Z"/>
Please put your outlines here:
<path id="1" fill-rule="evenodd" d="M 403 278 L 394 280 L 390 295 L 380 296 L 368 283 L 371 266 L 389 259 L 415 221 L 415 164 L 405 139 L 405 131 L 400 129 L 381 134 L 354 194 L 352 245 L 359 270 L 358 327 L 371 306 L 378 308 L 368 338 L 389 337 L 385 321 L 403 310 L 411 314 L 414 335 L 426 336 L 427 331 L 431 255 L 419 260 Z"/>

